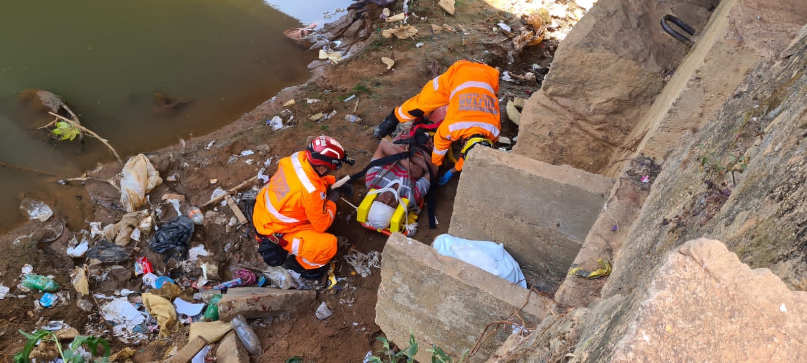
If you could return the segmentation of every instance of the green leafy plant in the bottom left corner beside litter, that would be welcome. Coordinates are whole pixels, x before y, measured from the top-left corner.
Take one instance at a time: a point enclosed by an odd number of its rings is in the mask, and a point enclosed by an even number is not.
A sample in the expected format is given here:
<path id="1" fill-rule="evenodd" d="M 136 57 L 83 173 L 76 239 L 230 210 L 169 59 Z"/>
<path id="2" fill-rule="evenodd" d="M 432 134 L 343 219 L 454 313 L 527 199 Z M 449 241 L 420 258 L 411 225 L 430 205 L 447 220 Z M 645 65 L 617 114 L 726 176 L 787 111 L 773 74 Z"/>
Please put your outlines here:
<path id="1" fill-rule="evenodd" d="M 84 357 L 77 353 L 78 348 L 81 348 L 82 345 L 86 345 L 88 349 L 90 349 L 90 354 L 96 356 L 98 354 L 98 345 L 101 345 L 104 348 L 103 357 L 96 359 L 97 362 L 107 362 L 109 361 L 110 355 L 110 348 L 109 343 L 107 340 L 103 340 L 101 338 L 97 338 L 95 336 L 76 336 L 73 338 L 73 341 L 67 346 L 67 348 L 62 348 L 61 342 L 59 338 L 56 336 L 56 333 L 48 332 L 44 329 L 39 329 L 33 334 L 28 334 L 27 332 L 23 332 L 22 330 L 19 331 L 20 334 L 25 336 L 28 340 L 25 342 L 25 346 L 23 347 L 23 351 L 17 353 L 14 356 L 15 363 L 28 363 L 28 357 L 31 355 L 31 351 L 34 350 L 36 344 L 39 344 L 40 341 L 46 342 L 50 341 L 56 344 L 56 351 L 59 352 L 59 356 L 65 363 L 85 363 Z"/>

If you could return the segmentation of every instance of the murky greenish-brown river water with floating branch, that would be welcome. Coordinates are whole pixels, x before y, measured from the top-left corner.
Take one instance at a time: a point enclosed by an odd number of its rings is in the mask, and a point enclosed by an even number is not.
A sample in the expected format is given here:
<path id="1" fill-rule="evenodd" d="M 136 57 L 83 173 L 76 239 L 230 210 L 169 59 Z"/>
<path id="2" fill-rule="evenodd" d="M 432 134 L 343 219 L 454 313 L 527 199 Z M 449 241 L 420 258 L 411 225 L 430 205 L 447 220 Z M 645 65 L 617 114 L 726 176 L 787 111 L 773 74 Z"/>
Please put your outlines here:
<path id="1" fill-rule="evenodd" d="M 122 155 L 214 131 L 307 80 L 315 52 L 282 35 L 349 0 L 27 0 L 0 10 L 0 229 L 19 222 L 19 194 L 41 174 L 77 176 L 112 156 L 88 139 L 48 141 L 18 95 L 49 90 Z M 328 14 L 324 14 L 328 13 Z M 333 15 L 333 19 L 343 13 Z M 190 102 L 155 112 L 155 94 Z M 6 165 L 6 166 L 2 166 Z"/>

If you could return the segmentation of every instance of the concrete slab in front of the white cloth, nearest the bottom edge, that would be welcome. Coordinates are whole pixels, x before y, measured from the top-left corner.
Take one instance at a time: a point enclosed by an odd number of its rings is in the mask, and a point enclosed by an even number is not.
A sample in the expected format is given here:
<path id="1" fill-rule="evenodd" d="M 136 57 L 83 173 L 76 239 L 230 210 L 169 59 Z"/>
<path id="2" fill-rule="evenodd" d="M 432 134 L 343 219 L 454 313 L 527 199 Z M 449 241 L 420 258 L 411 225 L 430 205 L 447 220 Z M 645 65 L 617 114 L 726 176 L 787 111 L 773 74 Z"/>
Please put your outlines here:
<path id="1" fill-rule="evenodd" d="M 549 298 L 395 233 L 382 255 L 375 323 L 404 348 L 412 329 L 420 346 L 416 360 L 431 361 L 426 349 L 432 344 L 462 354 L 474 347 L 489 323 L 508 320 L 517 311 L 525 324 L 535 326 L 551 305 Z M 493 328 L 498 331 L 470 362 L 485 361 L 512 332 L 512 326 Z"/>

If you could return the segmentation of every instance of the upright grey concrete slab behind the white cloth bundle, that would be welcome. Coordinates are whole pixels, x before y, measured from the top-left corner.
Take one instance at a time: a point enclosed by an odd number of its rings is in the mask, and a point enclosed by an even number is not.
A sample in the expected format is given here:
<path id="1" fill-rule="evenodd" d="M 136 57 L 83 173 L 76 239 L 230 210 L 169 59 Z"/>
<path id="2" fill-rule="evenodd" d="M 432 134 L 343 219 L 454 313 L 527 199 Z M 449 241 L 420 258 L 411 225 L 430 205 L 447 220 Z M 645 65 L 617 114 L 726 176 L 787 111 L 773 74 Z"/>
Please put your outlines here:
<path id="1" fill-rule="evenodd" d="M 491 148 L 468 155 L 449 234 L 504 244 L 521 269 L 557 287 L 575 260 L 613 179 Z"/>

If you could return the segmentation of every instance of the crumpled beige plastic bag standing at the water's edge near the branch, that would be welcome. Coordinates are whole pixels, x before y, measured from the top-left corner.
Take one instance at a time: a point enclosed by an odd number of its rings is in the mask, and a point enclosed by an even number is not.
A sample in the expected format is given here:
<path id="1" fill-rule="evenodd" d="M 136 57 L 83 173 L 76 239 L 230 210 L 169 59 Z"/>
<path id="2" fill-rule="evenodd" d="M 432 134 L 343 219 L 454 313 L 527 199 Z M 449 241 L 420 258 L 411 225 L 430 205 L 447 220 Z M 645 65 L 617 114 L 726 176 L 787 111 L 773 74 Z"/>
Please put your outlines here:
<path id="1" fill-rule="evenodd" d="M 123 165 L 120 178 L 120 204 L 128 212 L 136 211 L 146 200 L 146 194 L 162 183 L 151 161 L 143 154 L 132 156 Z"/>

